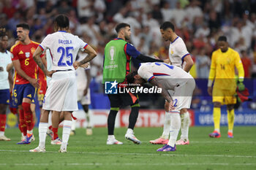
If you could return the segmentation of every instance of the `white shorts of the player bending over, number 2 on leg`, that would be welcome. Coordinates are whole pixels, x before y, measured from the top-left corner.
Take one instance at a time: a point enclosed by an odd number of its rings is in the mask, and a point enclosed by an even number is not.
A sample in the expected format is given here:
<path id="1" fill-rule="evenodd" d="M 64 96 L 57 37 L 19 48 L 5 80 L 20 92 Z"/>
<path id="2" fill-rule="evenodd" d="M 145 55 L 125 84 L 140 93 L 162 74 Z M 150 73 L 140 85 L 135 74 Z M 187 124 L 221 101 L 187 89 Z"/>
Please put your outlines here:
<path id="1" fill-rule="evenodd" d="M 181 109 L 189 109 L 194 89 L 194 79 L 189 79 L 185 85 L 176 87 L 174 93 L 171 94 L 173 98 L 173 106 L 175 107 L 171 112 L 181 112 Z M 171 93 L 171 91 L 169 93 Z"/>

